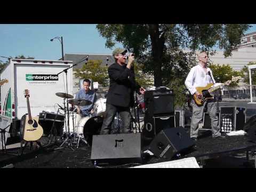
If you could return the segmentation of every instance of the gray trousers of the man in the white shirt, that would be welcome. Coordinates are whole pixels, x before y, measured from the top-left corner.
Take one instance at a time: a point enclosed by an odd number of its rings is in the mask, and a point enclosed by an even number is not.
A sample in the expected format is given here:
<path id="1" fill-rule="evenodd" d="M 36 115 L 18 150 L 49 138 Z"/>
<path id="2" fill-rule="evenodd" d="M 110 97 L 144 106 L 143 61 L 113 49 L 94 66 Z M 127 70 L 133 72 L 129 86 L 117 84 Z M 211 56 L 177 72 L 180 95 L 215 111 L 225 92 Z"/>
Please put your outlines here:
<path id="1" fill-rule="evenodd" d="M 207 113 L 211 118 L 211 125 L 212 125 L 212 137 L 219 137 L 220 136 L 220 126 L 219 120 L 217 117 L 217 106 L 213 100 L 209 100 L 204 102 L 203 106 L 197 106 L 194 99 L 191 100 L 191 106 L 193 107 L 192 111 L 192 119 L 190 125 L 190 138 L 197 138 L 198 136 L 198 124 L 203 118 L 204 107 L 207 105 Z"/>

